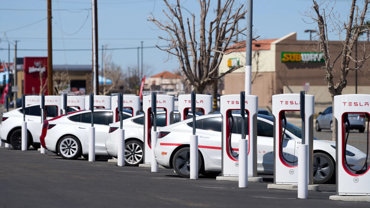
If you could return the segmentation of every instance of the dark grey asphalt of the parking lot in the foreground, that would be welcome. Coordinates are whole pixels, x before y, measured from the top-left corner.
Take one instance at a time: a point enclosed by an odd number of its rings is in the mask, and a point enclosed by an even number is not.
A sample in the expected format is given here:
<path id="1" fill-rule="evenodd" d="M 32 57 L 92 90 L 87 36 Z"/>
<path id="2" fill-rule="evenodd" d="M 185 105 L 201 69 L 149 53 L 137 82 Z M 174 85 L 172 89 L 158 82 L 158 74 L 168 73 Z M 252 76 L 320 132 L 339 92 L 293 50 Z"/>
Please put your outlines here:
<path id="1" fill-rule="evenodd" d="M 297 199 L 297 191 L 267 189 L 269 182 L 238 188 L 235 181 L 189 180 L 173 170 L 159 171 L 1 147 L 0 207 L 369 207 L 329 200 L 335 185 Z"/>

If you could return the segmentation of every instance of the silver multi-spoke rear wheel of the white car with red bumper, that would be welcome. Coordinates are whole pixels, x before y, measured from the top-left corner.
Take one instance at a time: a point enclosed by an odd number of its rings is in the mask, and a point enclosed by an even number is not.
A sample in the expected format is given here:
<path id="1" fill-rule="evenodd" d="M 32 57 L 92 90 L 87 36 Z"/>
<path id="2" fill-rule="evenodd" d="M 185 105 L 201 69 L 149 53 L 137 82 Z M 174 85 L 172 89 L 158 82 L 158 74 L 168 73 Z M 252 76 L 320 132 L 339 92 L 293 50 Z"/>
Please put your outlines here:
<path id="1" fill-rule="evenodd" d="M 65 136 L 58 142 L 58 151 L 63 159 L 76 160 L 81 156 L 80 141 L 74 136 Z"/>

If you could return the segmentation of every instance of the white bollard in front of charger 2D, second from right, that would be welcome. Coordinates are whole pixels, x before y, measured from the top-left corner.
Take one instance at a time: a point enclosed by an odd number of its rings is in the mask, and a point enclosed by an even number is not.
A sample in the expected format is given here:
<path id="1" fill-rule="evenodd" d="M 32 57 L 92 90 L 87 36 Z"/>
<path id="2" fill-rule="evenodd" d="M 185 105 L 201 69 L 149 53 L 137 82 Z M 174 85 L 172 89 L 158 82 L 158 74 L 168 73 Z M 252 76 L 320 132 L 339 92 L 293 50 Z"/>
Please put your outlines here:
<path id="1" fill-rule="evenodd" d="M 248 140 L 239 140 L 239 188 L 248 188 Z"/>

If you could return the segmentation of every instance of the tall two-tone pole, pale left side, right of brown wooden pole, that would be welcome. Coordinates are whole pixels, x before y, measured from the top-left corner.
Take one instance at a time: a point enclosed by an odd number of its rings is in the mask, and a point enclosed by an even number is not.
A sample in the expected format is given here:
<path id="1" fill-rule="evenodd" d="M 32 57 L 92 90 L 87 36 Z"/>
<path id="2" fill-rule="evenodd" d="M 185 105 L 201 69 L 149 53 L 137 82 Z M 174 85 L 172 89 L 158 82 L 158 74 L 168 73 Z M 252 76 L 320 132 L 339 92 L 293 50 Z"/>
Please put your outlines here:
<path id="1" fill-rule="evenodd" d="M 99 93 L 99 70 L 98 70 L 98 5 L 97 0 L 91 0 L 92 11 L 92 73 L 94 74 L 91 80 L 94 84 L 94 95 Z"/>

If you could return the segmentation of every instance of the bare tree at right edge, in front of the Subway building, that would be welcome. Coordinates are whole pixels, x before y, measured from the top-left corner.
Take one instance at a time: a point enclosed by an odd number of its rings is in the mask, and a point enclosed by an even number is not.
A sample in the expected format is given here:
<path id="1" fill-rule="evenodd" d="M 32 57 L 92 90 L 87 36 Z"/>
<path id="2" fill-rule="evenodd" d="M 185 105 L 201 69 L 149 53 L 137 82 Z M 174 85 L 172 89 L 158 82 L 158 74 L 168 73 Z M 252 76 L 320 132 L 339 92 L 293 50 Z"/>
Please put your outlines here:
<path id="1" fill-rule="evenodd" d="M 370 0 L 363 0 L 360 3 L 357 0 L 352 0 L 349 16 L 347 21 L 340 20 L 339 14 L 334 11 L 334 7 L 329 7 L 329 3 L 325 1 L 323 3 L 317 4 L 313 0 L 313 5 L 310 10 L 307 10 L 305 16 L 312 18 L 313 22 L 317 24 L 318 30 L 316 35 L 317 40 L 317 56 L 322 56 L 325 60 L 322 68 L 326 71 L 325 82 L 329 93 L 332 95 L 332 104 L 334 105 L 334 96 L 341 95 L 343 89 L 347 86 L 346 77 L 349 71 L 359 70 L 361 73 L 361 68 L 364 67 L 364 61 L 369 58 L 366 56 L 366 51 L 369 47 L 367 42 L 361 42 L 360 45 L 360 56 L 357 60 L 353 58 L 353 49 L 356 42 L 359 40 L 360 34 L 369 31 L 369 25 L 364 23 L 366 16 L 368 15 L 368 6 Z M 334 32 L 340 38 L 343 43 L 342 51 L 339 54 L 335 54 L 332 57 L 331 46 L 329 43 L 328 33 Z M 340 60 L 339 63 L 339 80 L 334 83 L 333 77 L 334 66 L 336 61 Z M 349 67 L 350 63 L 357 63 L 357 67 Z M 366 67 L 367 68 L 367 67 Z M 367 69 L 368 70 L 368 69 Z M 369 70 L 368 70 L 369 71 Z M 363 73 L 364 74 L 364 73 Z M 335 141 L 336 135 L 336 120 L 334 118 L 334 108 L 333 108 L 333 135 L 332 140 Z"/>

